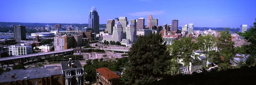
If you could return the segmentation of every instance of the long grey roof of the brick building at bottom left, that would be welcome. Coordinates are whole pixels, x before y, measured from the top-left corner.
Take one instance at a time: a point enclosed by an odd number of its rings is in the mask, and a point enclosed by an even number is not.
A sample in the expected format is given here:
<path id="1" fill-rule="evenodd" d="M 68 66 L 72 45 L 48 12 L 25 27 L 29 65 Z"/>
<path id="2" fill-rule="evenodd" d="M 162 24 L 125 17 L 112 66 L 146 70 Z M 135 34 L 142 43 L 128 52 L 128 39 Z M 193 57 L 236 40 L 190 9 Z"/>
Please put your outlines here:
<path id="1" fill-rule="evenodd" d="M 37 70 L 38 73 L 35 70 Z M 15 75 L 14 79 L 12 79 L 12 74 Z M 62 74 L 62 70 L 59 66 L 49 66 L 46 68 L 29 68 L 27 70 L 24 70 L 24 69 L 10 70 L 9 72 L 3 72 L 0 75 L 1 76 L 0 83 L 51 77 L 51 75 L 60 75 L 60 74 Z"/>

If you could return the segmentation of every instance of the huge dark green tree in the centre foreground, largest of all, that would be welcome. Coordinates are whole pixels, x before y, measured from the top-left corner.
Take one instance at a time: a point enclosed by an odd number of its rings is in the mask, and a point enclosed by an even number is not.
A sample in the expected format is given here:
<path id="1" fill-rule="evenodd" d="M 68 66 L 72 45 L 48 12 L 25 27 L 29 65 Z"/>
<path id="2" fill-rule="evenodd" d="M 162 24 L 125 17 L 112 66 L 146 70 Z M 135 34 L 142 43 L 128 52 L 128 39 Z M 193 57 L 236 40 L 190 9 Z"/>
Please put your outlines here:
<path id="1" fill-rule="evenodd" d="M 147 85 L 161 79 L 170 60 L 167 46 L 158 33 L 140 36 L 128 55 L 129 68 L 122 79 L 125 85 Z"/>

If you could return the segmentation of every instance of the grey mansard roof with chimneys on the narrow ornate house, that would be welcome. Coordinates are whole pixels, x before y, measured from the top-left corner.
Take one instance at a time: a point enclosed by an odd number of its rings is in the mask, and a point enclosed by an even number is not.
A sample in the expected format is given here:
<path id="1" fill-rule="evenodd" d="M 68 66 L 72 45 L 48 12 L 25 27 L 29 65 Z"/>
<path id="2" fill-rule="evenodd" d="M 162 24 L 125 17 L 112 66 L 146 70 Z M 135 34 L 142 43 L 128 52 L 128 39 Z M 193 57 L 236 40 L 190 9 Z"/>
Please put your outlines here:
<path id="1" fill-rule="evenodd" d="M 72 60 L 72 61 L 74 63 L 74 68 L 83 68 L 79 60 Z M 74 68 L 71 68 L 71 66 L 68 66 L 68 64 L 69 64 L 69 61 L 61 62 L 62 70 L 74 69 Z"/>

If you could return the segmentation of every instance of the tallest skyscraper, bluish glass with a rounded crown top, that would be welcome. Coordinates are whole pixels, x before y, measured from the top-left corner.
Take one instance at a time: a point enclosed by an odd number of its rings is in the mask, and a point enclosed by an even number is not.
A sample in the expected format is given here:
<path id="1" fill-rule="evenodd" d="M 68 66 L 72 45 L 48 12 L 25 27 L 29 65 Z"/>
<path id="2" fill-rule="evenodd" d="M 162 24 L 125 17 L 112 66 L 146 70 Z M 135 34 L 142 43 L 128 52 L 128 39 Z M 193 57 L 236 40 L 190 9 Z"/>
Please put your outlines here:
<path id="1" fill-rule="evenodd" d="M 95 6 L 91 7 L 88 20 L 89 28 L 93 29 L 93 33 L 99 34 L 99 15 Z"/>

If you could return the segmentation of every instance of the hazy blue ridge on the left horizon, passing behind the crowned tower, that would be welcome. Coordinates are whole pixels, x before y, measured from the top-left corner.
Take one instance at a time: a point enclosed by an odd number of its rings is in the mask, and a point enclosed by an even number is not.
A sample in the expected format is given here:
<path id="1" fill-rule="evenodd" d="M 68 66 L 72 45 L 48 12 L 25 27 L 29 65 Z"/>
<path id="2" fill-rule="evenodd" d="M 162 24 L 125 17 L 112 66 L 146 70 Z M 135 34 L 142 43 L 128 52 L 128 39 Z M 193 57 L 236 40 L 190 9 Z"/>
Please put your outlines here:
<path id="1" fill-rule="evenodd" d="M 11 25 L 22 25 L 22 26 L 26 26 L 26 27 L 30 28 L 30 27 L 45 27 L 47 24 L 48 24 L 49 26 L 54 26 L 54 25 L 56 25 L 56 24 L 61 24 L 61 26 L 70 26 L 70 25 L 73 25 L 73 26 L 79 27 L 79 28 L 88 27 L 88 24 L 87 24 L 87 23 L 78 24 L 78 23 L 22 23 L 22 22 L 0 22 L 0 26 L 1 26 L 1 27 L 8 27 L 8 26 L 11 26 Z M 106 24 L 100 24 L 100 25 L 99 25 L 99 28 L 106 28 Z"/>

